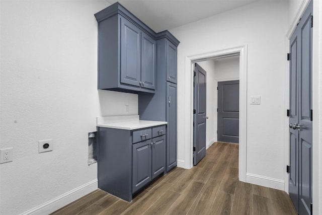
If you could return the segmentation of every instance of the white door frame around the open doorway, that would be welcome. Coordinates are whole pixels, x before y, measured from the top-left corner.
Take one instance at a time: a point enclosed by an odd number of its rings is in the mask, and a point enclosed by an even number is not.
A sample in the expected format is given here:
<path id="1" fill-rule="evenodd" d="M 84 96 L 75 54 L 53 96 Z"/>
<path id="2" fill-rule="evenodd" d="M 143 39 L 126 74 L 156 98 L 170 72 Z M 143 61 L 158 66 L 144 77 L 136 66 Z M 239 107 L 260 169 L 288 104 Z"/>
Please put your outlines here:
<path id="1" fill-rule="evenodd" d="M 215 59 L 222 56 L 231 56 L 239 53 L 239 180 L 246 182 L 247 165 L 247 44 L 228 47 L 211 52 L 186 56 L 185 59 L 185 99 L 190 104 L 184 107 L 185 127 L 184 168 L 193 167 L 193 71 L 194 63 L 203 60 Z M 178 166 L 180 163 L 178 162 Z"/>

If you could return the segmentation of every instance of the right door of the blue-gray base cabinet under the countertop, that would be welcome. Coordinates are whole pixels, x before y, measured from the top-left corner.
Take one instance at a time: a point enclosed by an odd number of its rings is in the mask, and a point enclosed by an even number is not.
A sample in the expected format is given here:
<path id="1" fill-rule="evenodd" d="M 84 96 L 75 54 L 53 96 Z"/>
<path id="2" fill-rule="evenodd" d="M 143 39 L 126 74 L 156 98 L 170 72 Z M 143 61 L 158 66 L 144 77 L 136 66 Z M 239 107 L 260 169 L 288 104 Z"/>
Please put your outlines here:
<path id="1" fill-rule="evenodd" d="M 166 170 L 166 135 L 152 139 L 152 179 Z"/>

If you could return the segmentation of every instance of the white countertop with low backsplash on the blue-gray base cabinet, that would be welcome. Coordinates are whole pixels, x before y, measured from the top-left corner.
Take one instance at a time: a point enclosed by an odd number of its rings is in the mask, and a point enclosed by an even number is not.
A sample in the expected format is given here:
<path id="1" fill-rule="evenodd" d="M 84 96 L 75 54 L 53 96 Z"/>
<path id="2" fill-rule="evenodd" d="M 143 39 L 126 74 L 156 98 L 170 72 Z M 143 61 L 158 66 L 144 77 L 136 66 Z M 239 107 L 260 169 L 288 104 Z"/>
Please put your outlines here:
<path id="1" fill-rule="evenodd" d="M 129 116 L 101 116 L 96 118 L 96 126 L 106 128 L 117 128 L 125 130 L 135 130 L 139 128 L 165 125 L 164 121 L 147 121 L 140 120 L 139 115 Z"/>

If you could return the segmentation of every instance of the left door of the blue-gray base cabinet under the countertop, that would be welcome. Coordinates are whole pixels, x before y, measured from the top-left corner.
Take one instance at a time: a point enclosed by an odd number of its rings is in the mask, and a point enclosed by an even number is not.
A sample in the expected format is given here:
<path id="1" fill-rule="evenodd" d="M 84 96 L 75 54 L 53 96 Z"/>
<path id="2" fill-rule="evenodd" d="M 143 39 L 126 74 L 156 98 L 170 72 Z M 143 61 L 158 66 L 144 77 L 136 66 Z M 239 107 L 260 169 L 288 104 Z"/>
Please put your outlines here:
<path id="1" fill-rule="evenodd" d="M 151 139 L 132 146 L 133 150 L 133 179 L 132 193 L 135 193 L 152 178 L 152 150 Z"/>

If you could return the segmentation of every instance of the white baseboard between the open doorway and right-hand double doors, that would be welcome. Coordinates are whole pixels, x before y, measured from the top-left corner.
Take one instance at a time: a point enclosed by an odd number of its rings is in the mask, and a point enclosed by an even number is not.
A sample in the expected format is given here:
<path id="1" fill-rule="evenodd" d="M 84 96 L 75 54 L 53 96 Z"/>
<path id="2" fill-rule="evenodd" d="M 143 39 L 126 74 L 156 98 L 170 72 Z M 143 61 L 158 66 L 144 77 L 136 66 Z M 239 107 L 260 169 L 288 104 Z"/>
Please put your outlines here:
<path id="1" fill-rule="evenodd" d="M 284 191 L 284 181 L 276 178 L 246 173 L 246 182 Z"/>

